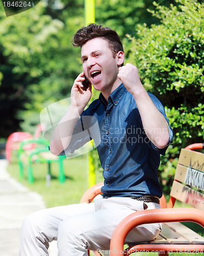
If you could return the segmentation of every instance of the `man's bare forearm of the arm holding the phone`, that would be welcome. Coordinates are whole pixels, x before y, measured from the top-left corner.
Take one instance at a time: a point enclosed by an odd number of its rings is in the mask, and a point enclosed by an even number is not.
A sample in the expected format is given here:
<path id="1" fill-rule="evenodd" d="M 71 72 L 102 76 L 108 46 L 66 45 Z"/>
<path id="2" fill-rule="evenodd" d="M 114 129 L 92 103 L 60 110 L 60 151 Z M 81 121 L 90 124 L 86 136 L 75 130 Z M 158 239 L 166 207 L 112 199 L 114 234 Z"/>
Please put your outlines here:
<path id="1" fill-rule="evenodd" d="M 50 141 L 50 151 L 54 155 L 59 155 L 69 145 L 74 126 L 82 112 L 83 109 L 70 105 L 67 113 L 56 126 Z"/>

